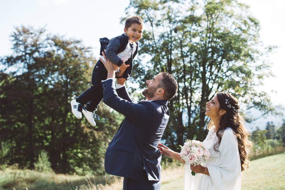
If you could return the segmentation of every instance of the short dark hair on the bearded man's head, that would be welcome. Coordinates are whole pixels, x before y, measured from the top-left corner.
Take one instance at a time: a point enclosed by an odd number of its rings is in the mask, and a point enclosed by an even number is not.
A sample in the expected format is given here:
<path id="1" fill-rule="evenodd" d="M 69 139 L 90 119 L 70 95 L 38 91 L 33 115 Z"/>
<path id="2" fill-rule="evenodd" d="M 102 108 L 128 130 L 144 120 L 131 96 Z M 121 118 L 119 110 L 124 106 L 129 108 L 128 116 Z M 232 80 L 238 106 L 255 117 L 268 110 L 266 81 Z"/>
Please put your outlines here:
<path id="1" fill-rule="evenodd" d="M 178 90 L 178 84 L 175 78 L 168 72 L 160 72 L 162 79 L 160 80 L 159 87 L 164 89 L 164 99 L 172 99 Z"/>

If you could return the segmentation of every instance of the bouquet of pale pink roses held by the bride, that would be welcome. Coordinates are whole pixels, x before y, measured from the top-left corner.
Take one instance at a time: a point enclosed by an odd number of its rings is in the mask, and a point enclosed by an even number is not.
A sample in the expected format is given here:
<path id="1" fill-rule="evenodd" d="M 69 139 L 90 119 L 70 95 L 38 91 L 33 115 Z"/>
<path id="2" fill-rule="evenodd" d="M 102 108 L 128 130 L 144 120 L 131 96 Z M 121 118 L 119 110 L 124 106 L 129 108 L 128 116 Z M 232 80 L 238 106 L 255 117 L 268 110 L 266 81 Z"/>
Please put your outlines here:
<path id="1" fill-rule="evenodd" d="M 210 152 L 205 149 L 203 144 L 199 140 L 186 140 L 184 146 L 179 145 L 181 148 L 180 156 L 181 160 L 185 161 L 185 164 L 192 164 L 193 166 L 206 162 L 210 156 Z M 195 172 L 191 172 L 192 175 L 196 175 Z"/>

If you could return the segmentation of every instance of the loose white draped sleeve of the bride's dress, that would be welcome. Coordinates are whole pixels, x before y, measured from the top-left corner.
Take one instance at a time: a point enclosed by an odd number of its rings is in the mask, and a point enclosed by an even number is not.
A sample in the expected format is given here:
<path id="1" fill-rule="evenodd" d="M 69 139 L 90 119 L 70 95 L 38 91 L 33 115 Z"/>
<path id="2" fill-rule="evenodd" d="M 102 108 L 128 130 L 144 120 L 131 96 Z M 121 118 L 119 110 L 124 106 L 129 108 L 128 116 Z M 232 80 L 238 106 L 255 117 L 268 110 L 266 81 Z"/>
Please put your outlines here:
<path id="1" fill-rule="evenodd" d="M 231 128 L 224 131 L 215 167 L 208 167 L 215 189 L 240 189 L 241 167 L 238 140 Z M 239 184 L 238 184 L 239 183 Z"/>

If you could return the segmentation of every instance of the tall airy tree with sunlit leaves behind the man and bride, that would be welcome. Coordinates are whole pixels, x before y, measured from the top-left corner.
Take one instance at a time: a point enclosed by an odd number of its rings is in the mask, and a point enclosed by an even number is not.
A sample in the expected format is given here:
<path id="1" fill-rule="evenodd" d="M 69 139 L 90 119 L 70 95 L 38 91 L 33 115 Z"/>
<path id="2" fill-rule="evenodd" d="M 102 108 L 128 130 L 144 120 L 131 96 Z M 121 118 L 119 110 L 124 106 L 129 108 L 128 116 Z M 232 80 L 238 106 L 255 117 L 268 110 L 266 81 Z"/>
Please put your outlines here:
<path id="1" fill-rule="evenodd" d="M 205 138 L 205 104 L 217 91 L 239 98 L 245 115 L 253 108 L 262 115 L 275 113 L 267 94 L 255 90 L 271 75 L 263 57 L 273 47 L 260 50 L 259 21 L 246 5 L 235 0 L 131 0 L 126 11 L 145 22 L 133 80 L 144 88 L 145 80 L 167 71 L 178 81 L 163 136 L 170 147 L 186 138 Z"/>

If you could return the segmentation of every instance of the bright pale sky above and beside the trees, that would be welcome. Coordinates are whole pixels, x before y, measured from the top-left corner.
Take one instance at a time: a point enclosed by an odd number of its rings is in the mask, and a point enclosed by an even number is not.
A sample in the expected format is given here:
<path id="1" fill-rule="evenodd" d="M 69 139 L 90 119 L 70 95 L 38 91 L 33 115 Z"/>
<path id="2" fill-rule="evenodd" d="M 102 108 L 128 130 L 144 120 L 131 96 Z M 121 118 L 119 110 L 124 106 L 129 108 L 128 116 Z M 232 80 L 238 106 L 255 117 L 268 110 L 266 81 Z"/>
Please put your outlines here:
<path id="1" fill-rule="evenodd" d="M 283 105 L 285 81 L 285 1 L 280 0 L 239 0 L 250 6 L 251 14 L 261 25 L 260 38 L 264 45 L 276 45 L 276 51 L 268 57 L 272 62 L 275 77 L 264 80 L 258 90 L 266 91 L 274 105 Z M 107 2 L 107 3 L 106 3 Z M 124 32 L 120 23 L 125 16 L 129 0 L 0 0 L 0 57 L 9 55 L 12 44 L 9 35 L 16 26 L 45 28 L 52 34 L 65 35 L 66 38 L 81 39 L 86 46 L 93 47 L 95 56 L 99 55 L 99 38 L 113 38 Z M 98 56 L 97 56 L 98 57 Z M 272 93 L 274 90 L 276 93 Z M 258 112 L 255 113 L 259 115 Z M 265 127 L 267 121 L 281 125 L 285 116 L 261 118 L 249 127 Z"/>

